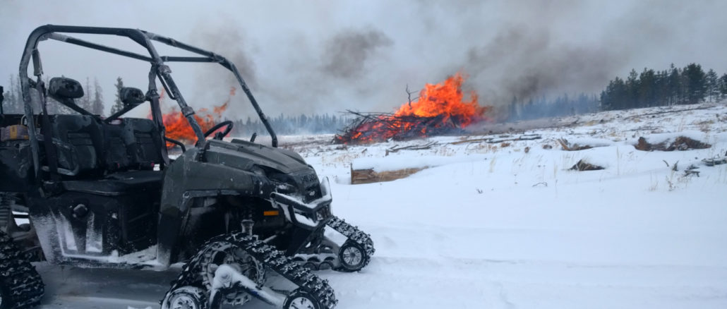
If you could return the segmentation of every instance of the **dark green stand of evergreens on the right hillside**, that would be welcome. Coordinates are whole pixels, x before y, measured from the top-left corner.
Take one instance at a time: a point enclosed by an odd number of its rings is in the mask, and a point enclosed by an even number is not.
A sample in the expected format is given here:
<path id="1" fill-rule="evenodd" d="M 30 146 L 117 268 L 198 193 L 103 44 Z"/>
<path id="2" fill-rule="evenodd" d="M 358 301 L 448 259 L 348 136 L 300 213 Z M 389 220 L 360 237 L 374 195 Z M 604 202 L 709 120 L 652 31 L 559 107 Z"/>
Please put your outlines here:
<path id="1" fill-rule="evenodd" d="M 727 98 L 727 73 L 722 76 L 702 65 L 691 63 L 684 68 L 673 64 L 667 70 L 644 68 L 631 70 L 626 79 L 616 77 L 601 92 L 604 111 L 652 106 L 715 102 Z"/>

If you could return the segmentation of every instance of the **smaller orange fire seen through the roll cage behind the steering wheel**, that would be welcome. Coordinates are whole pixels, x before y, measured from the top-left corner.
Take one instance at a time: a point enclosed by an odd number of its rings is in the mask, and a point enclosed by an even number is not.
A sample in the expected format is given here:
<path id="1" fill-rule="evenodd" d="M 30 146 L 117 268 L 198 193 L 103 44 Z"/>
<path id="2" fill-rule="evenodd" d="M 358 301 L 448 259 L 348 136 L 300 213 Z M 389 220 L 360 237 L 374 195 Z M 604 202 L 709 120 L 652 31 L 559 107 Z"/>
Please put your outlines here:
<path id="1" fill-rule="evenodd" d="M 194 119 L 196 119 L 199 126 L 202 127 L 202 132 L 206 132 L 210 128 L 214 127 L 214 124 L 222 119 L 222 113 L 228 108 L 230 100 L 235 95 L 235 92 L 235 87 L 230 87 L 230 96 L 228 97 L 228 100 L 226 100 L 225 103 L 222 103 L 222 105 L 212 107 L 212 112 L 210 112 L 207 108 L 201 108 L 199 111 L 196 111 Z M 164 127 L 166 127 L 166 137 L 169 137 L 172 140 L 179 140 L 185 144 L 196 142 L 197 137 L 194 135 L 192 127 L 177 108 L 173 107 L 169 113 L 164 113 L 164 115 L 162 115 L 162 121 L 164 122 Z M 174 147 L 174 144 L 166 143 L 166 148 L 172 147 Z"/>

